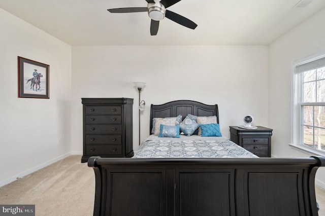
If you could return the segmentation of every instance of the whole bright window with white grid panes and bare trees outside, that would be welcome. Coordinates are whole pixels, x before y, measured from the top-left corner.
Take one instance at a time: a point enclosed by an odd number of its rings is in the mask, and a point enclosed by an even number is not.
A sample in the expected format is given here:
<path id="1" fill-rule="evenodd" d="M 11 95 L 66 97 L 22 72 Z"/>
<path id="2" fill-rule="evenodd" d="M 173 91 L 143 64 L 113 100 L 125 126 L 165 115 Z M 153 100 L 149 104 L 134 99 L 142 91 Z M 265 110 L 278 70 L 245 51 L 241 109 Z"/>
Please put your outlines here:
<path id="1" fill-rule="evenodd" d="M 325 57 L 295 65 L 294 143 L 325 153 Z"/>

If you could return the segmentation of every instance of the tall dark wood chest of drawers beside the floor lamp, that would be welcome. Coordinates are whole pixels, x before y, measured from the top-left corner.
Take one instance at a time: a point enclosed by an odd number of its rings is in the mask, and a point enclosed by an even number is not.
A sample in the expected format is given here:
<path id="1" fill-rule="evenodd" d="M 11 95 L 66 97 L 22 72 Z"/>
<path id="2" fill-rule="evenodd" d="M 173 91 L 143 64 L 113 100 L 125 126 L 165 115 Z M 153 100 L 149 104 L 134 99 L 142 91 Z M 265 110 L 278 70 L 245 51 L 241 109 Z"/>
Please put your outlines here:
<path id="1" fill-rule="evenodd" d="M 133 98 L 81 98 L 83 156 L 133 157 Z"/>

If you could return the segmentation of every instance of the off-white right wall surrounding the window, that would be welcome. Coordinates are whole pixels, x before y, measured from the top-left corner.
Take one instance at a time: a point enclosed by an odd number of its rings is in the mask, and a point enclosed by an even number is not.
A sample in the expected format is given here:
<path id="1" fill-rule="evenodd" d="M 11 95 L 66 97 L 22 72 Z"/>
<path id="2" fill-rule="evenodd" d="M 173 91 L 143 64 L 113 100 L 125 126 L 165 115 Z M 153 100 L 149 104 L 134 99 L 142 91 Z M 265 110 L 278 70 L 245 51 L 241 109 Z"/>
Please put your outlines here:
<path id="1" fill-rule="evenodd" d="M 272 155 L 308 157 L 288 146 L 291 117 L 291 63 L 313 53 L 325 51 L 325 10 L 290 30 L 269 46 L 269 125 L 274 129 Z M 325 170 L 316 173 L 325 187 Z"/>

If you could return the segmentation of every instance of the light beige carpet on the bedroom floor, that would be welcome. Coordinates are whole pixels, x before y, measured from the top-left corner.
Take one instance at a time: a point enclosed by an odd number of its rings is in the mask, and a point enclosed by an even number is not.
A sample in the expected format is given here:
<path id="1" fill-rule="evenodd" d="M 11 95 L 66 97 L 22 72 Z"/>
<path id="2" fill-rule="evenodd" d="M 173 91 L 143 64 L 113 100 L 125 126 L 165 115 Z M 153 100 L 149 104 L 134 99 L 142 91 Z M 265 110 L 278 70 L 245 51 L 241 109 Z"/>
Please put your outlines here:
<path id="1" fill-rule="evenodd" d="M 35 204 L 36 215 L 90 216 L 95 176 L 81 156 L 69 156 L 0 188 L 0 204 Z M 319 216 L 325 216 L 325 190 L 316 186 Z"/>

